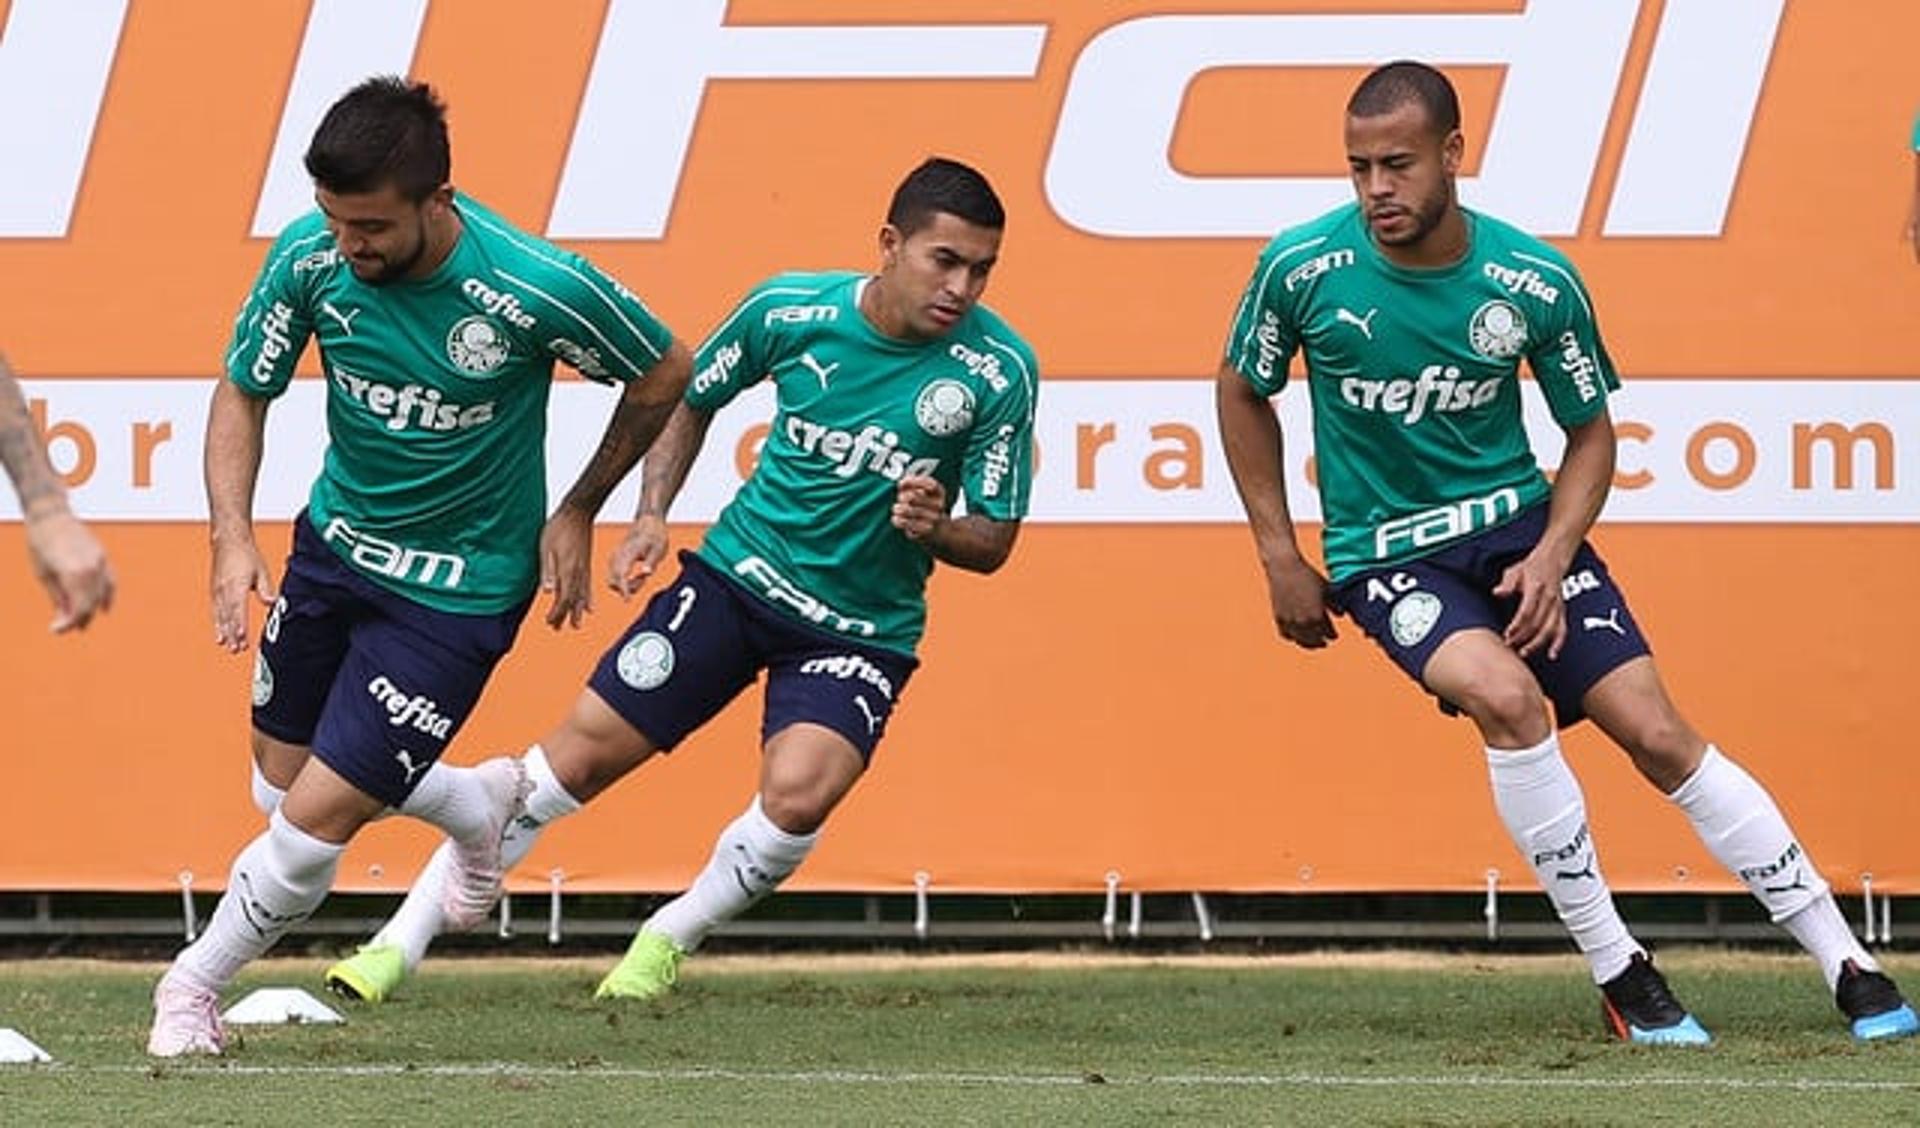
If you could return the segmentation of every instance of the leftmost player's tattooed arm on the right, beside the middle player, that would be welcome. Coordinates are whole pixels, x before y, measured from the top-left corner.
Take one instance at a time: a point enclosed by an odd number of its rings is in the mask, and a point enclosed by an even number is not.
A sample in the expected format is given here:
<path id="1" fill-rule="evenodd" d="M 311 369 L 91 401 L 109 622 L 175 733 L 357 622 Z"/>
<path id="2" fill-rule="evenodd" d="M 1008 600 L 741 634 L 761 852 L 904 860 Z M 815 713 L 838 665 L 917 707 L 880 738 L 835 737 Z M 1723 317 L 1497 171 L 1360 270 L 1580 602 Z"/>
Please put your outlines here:
<path id="1" fill-rule="evenodd" d="M 639 380 L 628 382 L 614 405 L 599 449 L 588 458 L 561 506 L 540 531 L 540 589 L 553 593 L 547 625 L 580 627 L 593 610 L 593 518 L 647 447 L 660 435 L 693 376 L 693 353 L 678 340 Z"/>

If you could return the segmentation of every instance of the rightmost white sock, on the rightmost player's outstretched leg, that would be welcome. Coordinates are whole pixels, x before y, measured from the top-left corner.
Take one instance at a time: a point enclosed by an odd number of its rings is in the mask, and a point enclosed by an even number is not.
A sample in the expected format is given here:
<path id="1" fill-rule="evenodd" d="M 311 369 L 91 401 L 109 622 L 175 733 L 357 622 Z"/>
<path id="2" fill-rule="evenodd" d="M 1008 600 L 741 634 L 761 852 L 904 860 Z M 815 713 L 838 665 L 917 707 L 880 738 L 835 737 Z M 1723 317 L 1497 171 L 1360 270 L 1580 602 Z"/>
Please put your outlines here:
<path id="1" fill-rule="evenodd" d="M 1686 811 L 1707 852 L 1820 961 L 1828 986 L 1839 982 L 1845 959 L 1872 967 L 1774 796 L 1743 767 L 1707 744 L 1699 767 L 1667 798 Z"/>

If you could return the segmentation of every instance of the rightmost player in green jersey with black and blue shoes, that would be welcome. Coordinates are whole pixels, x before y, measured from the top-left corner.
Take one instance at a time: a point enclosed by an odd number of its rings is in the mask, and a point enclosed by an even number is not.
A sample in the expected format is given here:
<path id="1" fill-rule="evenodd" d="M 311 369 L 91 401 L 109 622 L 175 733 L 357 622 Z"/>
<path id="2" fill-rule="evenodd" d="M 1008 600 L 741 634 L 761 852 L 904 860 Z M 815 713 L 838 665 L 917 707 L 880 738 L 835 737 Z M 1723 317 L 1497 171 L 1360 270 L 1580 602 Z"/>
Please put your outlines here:
<path id="1" fill-rule="evenodd" d="M 1444 75 L 1373 71 L 1346 115 L 1357 203 L 1281 232 L 1235 317 L 1219 426 L 1281 635 L 1325 646 L 1344 612 L 1473 719 L 1494 806 L 1588 957 L 1615 1036 L 1709 1040 L 1613 905 L 1542 696 L 1561 727 L 1592 717 L 1680 808 L 1818 959 L 1857 1038 L 1920 1030 L 1774 800 L 1668 700 L 1586 541 L 1613 482 L 1617 388 L 1592 299 L 1559 251 L 1459 205 L 1461 150 Z M 1269 405 L 1294 353 L 1329 576 L 1294 541 Z M 1551 483 L 1521 422 L 1523 359 L 1567 432 Z"/>

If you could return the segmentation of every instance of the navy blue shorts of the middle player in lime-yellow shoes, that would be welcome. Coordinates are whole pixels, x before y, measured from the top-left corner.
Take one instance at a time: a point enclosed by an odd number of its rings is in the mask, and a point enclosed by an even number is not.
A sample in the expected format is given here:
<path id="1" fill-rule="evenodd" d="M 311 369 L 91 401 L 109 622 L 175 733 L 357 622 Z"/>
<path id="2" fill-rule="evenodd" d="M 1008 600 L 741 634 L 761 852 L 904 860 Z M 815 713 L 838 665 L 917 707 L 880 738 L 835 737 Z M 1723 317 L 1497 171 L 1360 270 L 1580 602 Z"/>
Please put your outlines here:
<path id="1" fill-rule="evenodd" d="M 659 748 L 672 748 L 766 671 L 764 744 L 787 725 L 826 725 L 862 760 L 887 733 L 887 717 L 920 662 L 849 643 L 799 620 L 728 579 L 693 552 L 620 635 L 588 687 Z"/>

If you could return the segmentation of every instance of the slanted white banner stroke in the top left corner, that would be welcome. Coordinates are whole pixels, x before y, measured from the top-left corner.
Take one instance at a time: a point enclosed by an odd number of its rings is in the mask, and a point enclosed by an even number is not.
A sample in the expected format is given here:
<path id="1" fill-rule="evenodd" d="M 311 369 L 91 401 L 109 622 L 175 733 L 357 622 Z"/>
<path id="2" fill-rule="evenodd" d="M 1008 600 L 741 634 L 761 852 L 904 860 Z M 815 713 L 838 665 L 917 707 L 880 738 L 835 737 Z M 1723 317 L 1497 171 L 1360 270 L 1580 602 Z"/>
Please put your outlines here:
<path id="1" fill-rule="evenodd" d="M 119 52 L 125 0 L 13 0 L 0 27 L 0 238 L 61 238 Z"/>

